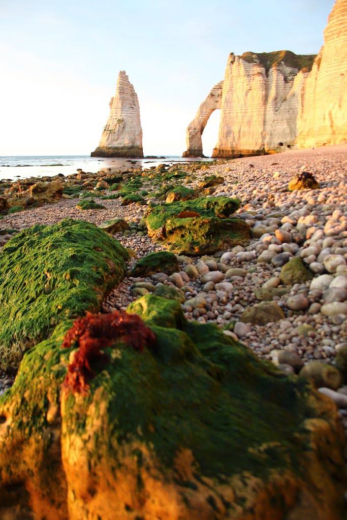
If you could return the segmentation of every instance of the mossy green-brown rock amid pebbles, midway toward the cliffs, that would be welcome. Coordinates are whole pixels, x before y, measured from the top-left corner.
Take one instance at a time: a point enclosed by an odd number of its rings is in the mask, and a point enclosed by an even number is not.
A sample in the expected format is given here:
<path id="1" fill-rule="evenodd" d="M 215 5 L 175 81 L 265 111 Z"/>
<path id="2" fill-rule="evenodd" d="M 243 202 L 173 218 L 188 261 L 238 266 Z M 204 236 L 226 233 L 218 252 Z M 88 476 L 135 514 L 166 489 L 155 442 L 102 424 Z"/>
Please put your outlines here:
<path id="1" fill-rule="evenodd" d="M 239 201 L 228 197 L 151 205 L 142 225 L 153 240 L 173 253 L 212 254 L 249 240 L 250 228 L 245 221 L 228 218 L 238 207 Z"/>

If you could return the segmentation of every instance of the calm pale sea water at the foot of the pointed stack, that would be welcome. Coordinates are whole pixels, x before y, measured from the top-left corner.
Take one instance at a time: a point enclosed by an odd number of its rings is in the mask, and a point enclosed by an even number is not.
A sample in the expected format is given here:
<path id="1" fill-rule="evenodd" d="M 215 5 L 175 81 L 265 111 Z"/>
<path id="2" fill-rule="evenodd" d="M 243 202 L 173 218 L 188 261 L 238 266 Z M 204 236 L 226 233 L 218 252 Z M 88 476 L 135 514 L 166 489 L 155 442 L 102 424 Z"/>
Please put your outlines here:
<path id="1" fill-rule="evenodd" d="M 28 177 L 54 176 L 58 173 L 70 175 L 78 168 L 84 172 L 129 170 L 131 167 L 157 166 L 158 164 L 174 164 L 175 162 L 211 161 L 212 159 L 182 159 L 179 155 L 166 155 L 165 159 L 127 159 L 110 157 L 98 158 L 89 155 L 12 155 L 0 156 L 0 179 L 26 179 Z"/>

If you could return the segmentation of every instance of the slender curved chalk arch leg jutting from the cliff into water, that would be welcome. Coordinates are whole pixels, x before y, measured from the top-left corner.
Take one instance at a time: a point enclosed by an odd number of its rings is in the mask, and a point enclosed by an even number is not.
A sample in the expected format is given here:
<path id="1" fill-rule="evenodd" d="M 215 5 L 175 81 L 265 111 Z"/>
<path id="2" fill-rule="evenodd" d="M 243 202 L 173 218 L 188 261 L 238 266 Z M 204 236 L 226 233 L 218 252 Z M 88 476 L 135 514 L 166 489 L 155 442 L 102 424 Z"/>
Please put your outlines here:
<path id="1" fill-rule="evenodd" d="M 187 150 L 183 157 L 205 157 L 202 153 L 202 133 L 212 112 L 222 106 L 223 81 L 211 89 L 207 98 L 201 103 L 195 118 L 189 123 L 186 132 Z"/>

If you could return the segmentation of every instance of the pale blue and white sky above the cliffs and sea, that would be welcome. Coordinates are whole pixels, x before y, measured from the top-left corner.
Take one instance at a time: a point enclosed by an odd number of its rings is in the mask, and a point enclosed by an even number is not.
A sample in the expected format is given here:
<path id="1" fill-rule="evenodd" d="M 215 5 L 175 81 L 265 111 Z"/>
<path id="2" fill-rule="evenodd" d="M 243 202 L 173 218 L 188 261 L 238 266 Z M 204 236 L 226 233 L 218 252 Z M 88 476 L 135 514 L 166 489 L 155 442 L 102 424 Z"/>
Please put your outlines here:
<path id="1" fill-rule="evenodd" d="M 120 70 L 145 155 L 181 155 L 230 52 L 316 54 L 333 0 L 0 0 L 0 156 L 88 155 Z M 220 111 L 202 136 L 216 144 Z"/>

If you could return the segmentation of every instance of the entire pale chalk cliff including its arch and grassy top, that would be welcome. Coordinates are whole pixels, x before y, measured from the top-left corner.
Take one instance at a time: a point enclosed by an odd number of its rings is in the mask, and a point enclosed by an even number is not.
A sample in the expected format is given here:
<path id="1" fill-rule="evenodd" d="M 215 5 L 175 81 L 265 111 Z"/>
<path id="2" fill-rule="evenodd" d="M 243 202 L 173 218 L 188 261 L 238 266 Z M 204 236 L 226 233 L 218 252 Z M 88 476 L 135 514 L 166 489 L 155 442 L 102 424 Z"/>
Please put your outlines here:
<path id="1" fill-rule="evenodd" d="M 211 90 L 187 128 L 185 157 L 202 157 L 201 134 L 221 109 L 212 157 L 247 157 L 347 140 L 347 0 L 337 0 L 318 56 L 288 50 L 228 57 L 224 81 Z M 218 102 L 211 94 L 219 87 Z"/>

